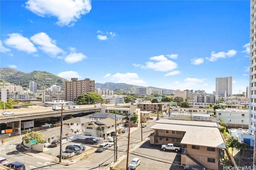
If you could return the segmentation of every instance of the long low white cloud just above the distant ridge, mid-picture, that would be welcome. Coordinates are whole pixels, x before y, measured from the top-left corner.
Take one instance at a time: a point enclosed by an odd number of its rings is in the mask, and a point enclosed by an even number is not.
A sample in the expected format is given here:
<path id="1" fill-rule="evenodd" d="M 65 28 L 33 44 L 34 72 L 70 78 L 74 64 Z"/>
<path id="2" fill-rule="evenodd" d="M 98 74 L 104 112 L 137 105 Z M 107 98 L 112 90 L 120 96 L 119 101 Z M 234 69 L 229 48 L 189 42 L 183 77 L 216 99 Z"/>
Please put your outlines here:
<path id="1" fill-rule="evenodd" d="M 138 86 L 146 85 L 146 82 L 144 80 L 141 80 L 137 73 L 132 73 L 132 72 L 127 72 L 124 74 L 118 72 L 112 76 L 109 75 L 107 78 L 115 83 L 128 83 L 128 84 L 134 84 Z"/>

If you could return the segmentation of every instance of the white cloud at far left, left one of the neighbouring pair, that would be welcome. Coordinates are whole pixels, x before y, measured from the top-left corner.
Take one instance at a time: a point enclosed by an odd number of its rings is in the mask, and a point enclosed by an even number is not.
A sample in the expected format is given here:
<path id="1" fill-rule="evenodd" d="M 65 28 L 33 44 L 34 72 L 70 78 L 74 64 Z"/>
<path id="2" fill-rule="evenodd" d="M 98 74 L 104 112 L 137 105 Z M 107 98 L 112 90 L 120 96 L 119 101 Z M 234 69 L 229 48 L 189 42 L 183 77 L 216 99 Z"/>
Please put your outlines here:
<path id="1" fill-rule="evenodd" d="M 4 43 L 10 47 L 25 51 L 26 53 L 37 52 L 36 47 L 29 41 L 28 38 L 23 37 L 19 33 L 8 34 L 9 38 L 4 40 Z"/>

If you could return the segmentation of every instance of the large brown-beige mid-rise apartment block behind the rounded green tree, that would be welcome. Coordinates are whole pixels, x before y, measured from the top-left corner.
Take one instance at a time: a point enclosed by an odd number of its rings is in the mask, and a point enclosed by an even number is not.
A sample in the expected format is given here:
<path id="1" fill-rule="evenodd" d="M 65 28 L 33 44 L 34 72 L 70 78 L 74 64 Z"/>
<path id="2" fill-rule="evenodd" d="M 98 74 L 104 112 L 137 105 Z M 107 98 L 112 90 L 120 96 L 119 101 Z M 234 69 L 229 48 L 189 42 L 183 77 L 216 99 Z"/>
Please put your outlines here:
<path id="1" fill-rule="evenodd" d="M 87 92 L 94 92 L 95 81 L 90 78 L 78 80 L 78 78 L 71 78 L 71 81 L 65 82 L 65 100 L 74 101 L 77 96 Z"/>

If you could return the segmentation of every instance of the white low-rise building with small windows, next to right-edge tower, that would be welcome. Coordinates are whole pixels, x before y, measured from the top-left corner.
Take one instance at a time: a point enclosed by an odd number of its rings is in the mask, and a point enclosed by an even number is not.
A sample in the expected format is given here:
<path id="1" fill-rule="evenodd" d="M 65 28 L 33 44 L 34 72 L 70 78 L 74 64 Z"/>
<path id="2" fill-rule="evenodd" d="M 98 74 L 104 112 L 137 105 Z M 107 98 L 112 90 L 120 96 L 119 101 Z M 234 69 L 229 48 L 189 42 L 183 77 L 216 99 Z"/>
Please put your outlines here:
<path id="1" fill-rule="evenodd" d="M 228 128 L 248 129 L 249 111 L 240 109 L 216 109 L 216 118 L 227 123 Z"/>

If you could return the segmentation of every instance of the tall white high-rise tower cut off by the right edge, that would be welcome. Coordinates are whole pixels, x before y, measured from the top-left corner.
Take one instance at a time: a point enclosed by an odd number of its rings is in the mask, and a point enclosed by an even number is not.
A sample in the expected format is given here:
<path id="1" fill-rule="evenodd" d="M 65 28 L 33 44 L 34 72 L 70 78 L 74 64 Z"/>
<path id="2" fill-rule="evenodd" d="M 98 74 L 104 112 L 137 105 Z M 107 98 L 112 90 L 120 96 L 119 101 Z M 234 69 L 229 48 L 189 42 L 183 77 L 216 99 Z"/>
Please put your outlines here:
<path id="1" fill-rule="evenodd" d="M 253 163 L 256 163 L 256 143 L 255 143 L 255 124 L 256 124 L 256 1 L 250 0 L 250 78 L 249 78 L 249 133 L 254 135 Z"/>

